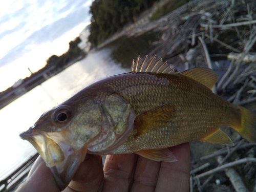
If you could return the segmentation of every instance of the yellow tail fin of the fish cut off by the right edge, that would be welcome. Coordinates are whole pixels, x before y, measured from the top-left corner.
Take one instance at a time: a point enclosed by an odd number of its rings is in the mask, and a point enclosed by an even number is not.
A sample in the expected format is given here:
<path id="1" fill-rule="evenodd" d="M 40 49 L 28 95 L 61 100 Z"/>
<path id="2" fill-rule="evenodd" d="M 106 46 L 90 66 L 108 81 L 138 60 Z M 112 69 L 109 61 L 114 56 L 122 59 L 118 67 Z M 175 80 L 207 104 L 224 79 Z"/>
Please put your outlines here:
<path id="1" fill-rule="evenodd" d="M 246 140 L 256 143 L 256 114 L 242 106 L 238 107 L 241 110 L 241 126 L 236 130 Z"/>

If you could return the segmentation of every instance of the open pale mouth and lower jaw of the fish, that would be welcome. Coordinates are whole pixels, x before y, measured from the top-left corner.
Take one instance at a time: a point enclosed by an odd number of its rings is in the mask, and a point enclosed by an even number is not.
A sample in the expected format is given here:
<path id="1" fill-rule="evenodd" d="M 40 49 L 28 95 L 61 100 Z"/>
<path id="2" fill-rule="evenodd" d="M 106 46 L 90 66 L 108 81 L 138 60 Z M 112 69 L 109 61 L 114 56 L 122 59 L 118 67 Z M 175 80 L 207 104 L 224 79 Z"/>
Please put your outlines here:
<path id="1" fill-rule="evenodd" d="M 61 132 L 47 133 L 30 127 L 19 136 L 28 140 L 50 167 L 60 190 L 65 189 L 86 157 L 87 148 L 76 148 Z"/>

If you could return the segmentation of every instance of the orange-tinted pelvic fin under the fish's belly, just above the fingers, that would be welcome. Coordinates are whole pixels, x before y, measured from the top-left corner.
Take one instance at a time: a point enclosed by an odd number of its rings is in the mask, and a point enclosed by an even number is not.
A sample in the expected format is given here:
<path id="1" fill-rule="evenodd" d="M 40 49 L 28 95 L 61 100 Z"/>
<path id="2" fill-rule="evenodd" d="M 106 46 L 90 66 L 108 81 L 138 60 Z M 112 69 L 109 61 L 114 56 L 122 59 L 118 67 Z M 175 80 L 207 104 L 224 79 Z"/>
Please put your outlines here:
<path id="1" fill-rule="evenodd" d="M 158 150 L 143 150 L 135 152 L 135 154 L 151 159 L 154 161 L 166 161 L 166 162 L 175 162 L 178 161 L 174 154 L 169 151 L 167 148 L 161 148 Z"/>

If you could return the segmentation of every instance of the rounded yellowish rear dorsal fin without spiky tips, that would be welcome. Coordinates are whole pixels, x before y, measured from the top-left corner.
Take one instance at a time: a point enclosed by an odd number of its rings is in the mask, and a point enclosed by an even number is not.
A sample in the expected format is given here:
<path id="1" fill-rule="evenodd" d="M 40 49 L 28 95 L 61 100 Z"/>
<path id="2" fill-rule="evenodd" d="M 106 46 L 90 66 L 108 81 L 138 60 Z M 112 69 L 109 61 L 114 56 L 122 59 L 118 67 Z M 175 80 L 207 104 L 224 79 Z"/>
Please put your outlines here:
<path id="1" fill-rule="evenodd" d="M 219 76 L 209 68 L 193 68 L 180 73 L 183 76 L 194 79 L 211 89 L 219 79 Z"/>

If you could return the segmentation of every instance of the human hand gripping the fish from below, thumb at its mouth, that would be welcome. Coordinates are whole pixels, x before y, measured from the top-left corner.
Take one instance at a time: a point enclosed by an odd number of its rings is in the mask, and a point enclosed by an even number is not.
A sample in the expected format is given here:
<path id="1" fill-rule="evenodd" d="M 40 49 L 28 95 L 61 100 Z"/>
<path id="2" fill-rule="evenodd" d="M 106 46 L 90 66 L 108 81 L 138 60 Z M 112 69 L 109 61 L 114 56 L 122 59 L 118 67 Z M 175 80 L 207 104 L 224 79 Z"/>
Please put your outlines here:
<path id="1" fill-rule="evenodd" d="M 65 192 L 75 191 L 188 191 L 189 144 L 169 148 L 176 162 L 157 162 L 136 154 L 108 155 L 102 167 L 101 156 L 87 154 Z M 28 179 L 16 192 L 59 191 L 49 167 L 39 157 Z"/>

